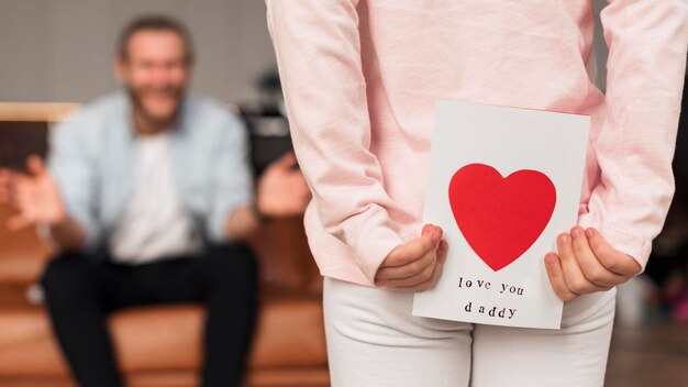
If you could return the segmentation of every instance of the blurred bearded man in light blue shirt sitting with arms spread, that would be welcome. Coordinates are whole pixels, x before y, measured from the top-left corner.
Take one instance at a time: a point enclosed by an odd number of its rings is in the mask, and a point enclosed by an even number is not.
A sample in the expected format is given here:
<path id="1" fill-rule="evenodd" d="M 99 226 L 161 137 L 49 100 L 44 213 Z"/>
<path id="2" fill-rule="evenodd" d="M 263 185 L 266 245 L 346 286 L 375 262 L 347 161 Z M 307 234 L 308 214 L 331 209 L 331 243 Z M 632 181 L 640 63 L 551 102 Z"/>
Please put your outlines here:
<path id="1" fill-rule="evenodd" d="M 186 96 L 193 53 L 178 22 L 134 21 L 115 60 L 123 91 L 54 131 L 49 172 L 0 172 L 10 229 L 47 225 L 62 247 L 42 280 L 55 333 L 81 386 L 121 386 L 108 312 L 202 301 L 204 386 L 238 384 L 255 319 L 256 264 L 242 244 L 310 194 L 288 154 L 254 199 L 246 134 L 223 107 Z"/>

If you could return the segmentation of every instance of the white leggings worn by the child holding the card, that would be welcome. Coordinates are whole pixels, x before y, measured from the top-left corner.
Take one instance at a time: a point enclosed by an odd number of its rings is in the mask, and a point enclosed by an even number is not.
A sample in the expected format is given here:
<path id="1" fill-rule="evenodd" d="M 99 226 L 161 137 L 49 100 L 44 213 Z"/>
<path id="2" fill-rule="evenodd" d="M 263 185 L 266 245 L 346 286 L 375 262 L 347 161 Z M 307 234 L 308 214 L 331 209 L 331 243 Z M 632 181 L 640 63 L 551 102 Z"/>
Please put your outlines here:
<path id="1" fill-rule="evenodd" d="M 602 386 L 615 294 L 567 302 L 561 330 L 537 330 L 413 317 L 412 294 L 325 277 L 332 386 Z"/>

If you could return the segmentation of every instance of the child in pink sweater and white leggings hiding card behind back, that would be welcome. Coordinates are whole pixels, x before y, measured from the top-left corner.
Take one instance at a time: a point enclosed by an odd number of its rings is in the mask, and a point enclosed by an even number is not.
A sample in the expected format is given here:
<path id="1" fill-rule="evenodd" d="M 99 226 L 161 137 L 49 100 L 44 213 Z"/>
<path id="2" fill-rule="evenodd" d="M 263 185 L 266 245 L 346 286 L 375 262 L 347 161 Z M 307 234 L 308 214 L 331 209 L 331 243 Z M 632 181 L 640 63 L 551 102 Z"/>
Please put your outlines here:
<path id="1" fill-rule="evenodd" d="M 333 386 L 602 386 L 614 286 L 641 273 L 674 185 L 685 0 L 267 0 Z M 591 115 L 578 224 L 543 257 L 562 329 L 411 316 L 447 254 L 421 224 L 437 99 Z"/>

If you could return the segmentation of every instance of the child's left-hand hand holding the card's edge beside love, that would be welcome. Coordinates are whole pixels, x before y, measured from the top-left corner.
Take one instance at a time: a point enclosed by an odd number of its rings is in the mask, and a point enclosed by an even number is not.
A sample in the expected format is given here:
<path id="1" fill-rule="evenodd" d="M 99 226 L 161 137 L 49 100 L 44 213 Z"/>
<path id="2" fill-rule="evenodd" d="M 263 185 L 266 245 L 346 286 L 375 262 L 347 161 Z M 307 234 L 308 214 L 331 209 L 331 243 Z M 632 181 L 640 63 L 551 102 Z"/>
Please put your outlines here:
<path id="1" fill-rule="evenodd" d="M 447 250 L 442 229 L 425 224 L 420 237 L 389 253 L 375 275 L 375 285 L 408 291 L 430 289 L 440 278 Z"/>

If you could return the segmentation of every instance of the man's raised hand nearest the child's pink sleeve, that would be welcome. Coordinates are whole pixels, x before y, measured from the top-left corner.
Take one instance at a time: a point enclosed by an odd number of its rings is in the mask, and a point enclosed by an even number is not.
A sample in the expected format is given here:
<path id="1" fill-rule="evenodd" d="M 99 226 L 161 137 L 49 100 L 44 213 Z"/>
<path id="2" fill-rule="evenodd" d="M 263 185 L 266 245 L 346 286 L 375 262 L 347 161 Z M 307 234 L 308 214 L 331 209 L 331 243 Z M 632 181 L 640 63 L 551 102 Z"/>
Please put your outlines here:
<path id="1" fill-rule="evenodd" d="M 296 155 L 288 152 L 265 170 L 257 189 L 257 204 L 263 214 L 288 217 L 303 213 L 311 192 L 296 165 Z"/>

